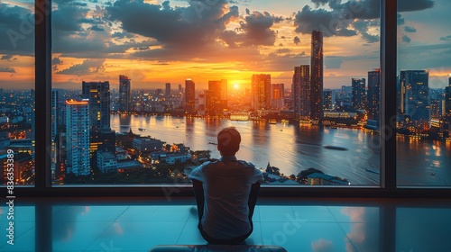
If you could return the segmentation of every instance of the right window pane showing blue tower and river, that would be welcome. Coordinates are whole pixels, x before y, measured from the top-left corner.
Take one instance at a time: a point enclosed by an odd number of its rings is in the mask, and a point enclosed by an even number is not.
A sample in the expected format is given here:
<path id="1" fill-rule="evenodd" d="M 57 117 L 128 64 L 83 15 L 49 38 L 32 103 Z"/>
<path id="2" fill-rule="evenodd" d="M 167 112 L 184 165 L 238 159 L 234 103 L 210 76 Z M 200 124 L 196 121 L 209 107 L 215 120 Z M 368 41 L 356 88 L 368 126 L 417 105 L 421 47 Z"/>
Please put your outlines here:
<path id="1" fill-rule="evenodd" d="M 400 1 L 397 183 L 451 185 L 451 3 Z"/>

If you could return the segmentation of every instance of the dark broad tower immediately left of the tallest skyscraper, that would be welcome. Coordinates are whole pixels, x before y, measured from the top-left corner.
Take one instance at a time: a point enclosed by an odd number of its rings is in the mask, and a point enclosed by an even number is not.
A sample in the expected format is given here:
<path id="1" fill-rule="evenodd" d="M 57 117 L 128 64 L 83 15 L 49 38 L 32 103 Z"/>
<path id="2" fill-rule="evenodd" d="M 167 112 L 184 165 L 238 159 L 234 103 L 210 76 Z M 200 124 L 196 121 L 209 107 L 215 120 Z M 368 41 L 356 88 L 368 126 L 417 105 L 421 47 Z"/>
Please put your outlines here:
<path id="1" fill-rule="evenodd" d="M 297 121 L 310 120 L 310 67 L 294 67 L 293 75 L 294 116 Z"/>

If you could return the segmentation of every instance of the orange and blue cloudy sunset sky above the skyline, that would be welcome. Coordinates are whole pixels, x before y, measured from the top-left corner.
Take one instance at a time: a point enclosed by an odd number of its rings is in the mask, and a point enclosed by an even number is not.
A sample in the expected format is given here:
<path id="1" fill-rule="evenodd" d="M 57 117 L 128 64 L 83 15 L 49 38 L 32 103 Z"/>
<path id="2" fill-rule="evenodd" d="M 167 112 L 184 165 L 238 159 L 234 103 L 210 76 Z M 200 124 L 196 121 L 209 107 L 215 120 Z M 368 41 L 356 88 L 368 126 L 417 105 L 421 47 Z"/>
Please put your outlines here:
<path id="1" fill-rule="evenodd" d="M 216 4 L 198 14 L 195 5 L 179 1 L 99 1 L 85 6 L 56 1 L 52 16 L 53 87 L 71 88 L 84 80 L 110 81 L 116 89 L 115 79 L 120 74 L 133 79 L 136 89 L 179 85 L 187 77 L 196 79 L 198 87 L 204 89 L 208 80 L 222 78 L 229 85 L 249 87 L 248 76 L 261 73 L 271 74 L 273 83 L 290 86 L 292 66 L 309 62 L 310 32 L 323 26 L 327 30 L 334 18 L 350 8 L 347 3 L 334 5 L 333 1 L 213 2 Z M 343 19 L 336 31 L 324 31 L 326 88 L 346 85 L 350 78 L 362 78 L 368 69 L 379 67 L 376 2 L 360 1 L 362 8 L 353 13 L 354 20 Z M 451 72 L 446 52 L 451 35 L 443 22 L 449 5 L 445 0 L 400 1 L 399 66 L 429 69 L 432 88 L 445 87 Z M 31 5 L 28 1 L 5 1 L 0 8 L 2 14 L 16 15 L 17 23 L 30 13 Z M 133 15 L 136 9 L 141 11 Z M 423 14 L 434 18 L 422 19 Z M 176 18 L 170 20 L 171 15 Z M 68 23 L 68 18 L 79 22 Z M 168 19 L 167 26 L 155 18 Z M 136 22 L 140 20 L 149 28 Z M 207 27 L 214 20 L 220 25 Z M 15 31 L 17 25 L 2 23 L 0 31 Z M 174 34 L 168 32 L 170 29 Z M 32 87 L 33 38 L 17 40 L 17 48 L 11 40 L 0 43 L 0 86 Z M 415 58 L 418 52 L 422 53 L 420 59 Z"/>

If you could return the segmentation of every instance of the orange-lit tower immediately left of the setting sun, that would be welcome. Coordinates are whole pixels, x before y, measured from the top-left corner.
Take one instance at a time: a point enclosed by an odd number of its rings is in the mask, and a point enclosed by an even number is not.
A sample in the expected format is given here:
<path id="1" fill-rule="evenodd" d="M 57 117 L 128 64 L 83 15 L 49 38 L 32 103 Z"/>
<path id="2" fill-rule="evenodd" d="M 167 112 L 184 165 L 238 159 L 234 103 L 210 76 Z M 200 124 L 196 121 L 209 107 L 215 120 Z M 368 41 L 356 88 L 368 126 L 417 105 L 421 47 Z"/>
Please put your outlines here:
<path id="1" fill-rule="evenodd" d="M 227 80 L 208 81 L 207 114 L 219 115 L 226 109 Z"/>

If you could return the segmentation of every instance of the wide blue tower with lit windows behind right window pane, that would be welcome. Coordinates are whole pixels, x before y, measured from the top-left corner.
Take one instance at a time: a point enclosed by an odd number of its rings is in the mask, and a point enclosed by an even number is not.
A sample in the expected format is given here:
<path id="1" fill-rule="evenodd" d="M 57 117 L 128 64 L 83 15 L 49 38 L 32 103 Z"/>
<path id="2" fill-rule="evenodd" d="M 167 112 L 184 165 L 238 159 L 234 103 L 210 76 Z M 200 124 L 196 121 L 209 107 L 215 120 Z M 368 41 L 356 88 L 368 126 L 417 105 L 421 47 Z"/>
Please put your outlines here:
<path id="1" fill-rule="evenodd" d="M 430 125 L 430 97 L 428 70 L 400 71 L 401 112 L 410 117 L 410 126 L 418 130 L 428 129 Z"/>

